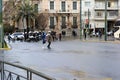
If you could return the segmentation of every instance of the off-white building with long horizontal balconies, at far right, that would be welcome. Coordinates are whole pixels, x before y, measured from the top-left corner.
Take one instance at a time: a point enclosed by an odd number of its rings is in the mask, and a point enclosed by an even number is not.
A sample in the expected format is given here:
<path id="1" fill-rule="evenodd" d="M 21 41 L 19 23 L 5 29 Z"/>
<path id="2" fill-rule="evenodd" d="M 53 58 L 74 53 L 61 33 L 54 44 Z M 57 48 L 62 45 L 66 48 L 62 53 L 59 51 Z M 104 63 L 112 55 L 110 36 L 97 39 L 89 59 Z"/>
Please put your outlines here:
<path id="1" fill-rule="evenodd" d="M 119 16 L 120 0 L 107 0 L 107 31 L 113 29 L 114 22 Z M 94 6 L 94 24 L 96 28 L 105 27 L 105 1 L 95 0 Z"/>

